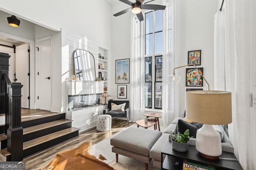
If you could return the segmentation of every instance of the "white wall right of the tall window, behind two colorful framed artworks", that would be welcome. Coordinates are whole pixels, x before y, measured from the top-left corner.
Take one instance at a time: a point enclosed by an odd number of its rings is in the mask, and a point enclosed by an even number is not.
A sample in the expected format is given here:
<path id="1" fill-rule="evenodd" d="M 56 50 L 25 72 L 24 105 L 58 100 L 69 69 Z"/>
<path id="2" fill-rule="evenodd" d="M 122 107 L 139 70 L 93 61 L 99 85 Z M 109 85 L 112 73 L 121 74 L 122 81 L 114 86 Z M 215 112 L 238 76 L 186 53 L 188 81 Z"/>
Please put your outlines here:
<path id="1" fill-rule="evenodd" d="M 188 51 L 201 51 L 201 65 L 204 68 L 204 77 L 214 90 L 214 14 L 218 10 L 216 0 L 180 0 L 179 8 L 179 66 L 188 64 Z M 185 110 L 186 68 L 177 70 L 182 76 L 180 80 L 180 115 Z M 206 82 L 203 89 L 208 90 Z M 200 88 L 200 87 L 196 87 Z"/>

